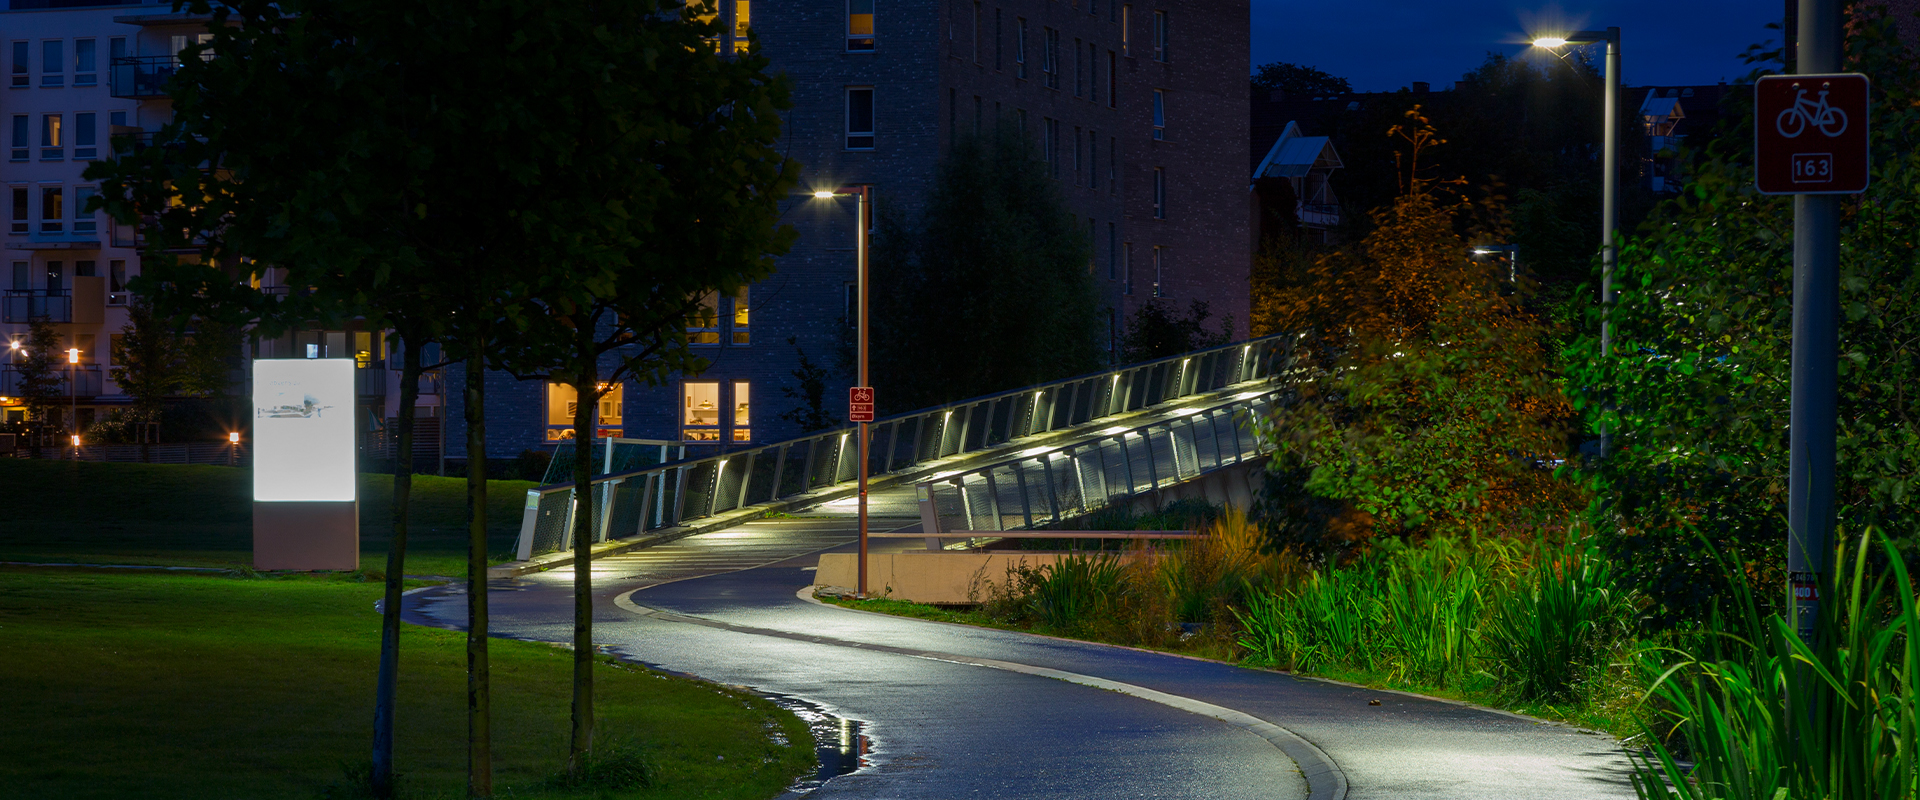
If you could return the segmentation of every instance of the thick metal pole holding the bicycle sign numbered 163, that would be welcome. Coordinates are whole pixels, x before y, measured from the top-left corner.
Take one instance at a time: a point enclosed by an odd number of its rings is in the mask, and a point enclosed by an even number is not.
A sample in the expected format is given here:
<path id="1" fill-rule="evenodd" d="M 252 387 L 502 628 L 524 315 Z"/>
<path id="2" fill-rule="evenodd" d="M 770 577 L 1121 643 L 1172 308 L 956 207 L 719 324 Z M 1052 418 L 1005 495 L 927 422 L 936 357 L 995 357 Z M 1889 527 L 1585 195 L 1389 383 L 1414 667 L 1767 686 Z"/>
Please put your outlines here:
<path id="1" fill-rule="evenodd" d="M 1837 73 L 1839 0 L 1801 0 L 1799 73 Z M 1795 624 L 1812 643 L 1826 556 L 1834 549 L 1839 198 L 1793 196 L 1793 411 L 1788 441 L 1788 579 Z M 1811 589 L 1811 591 L 1807 591 Z"/>

